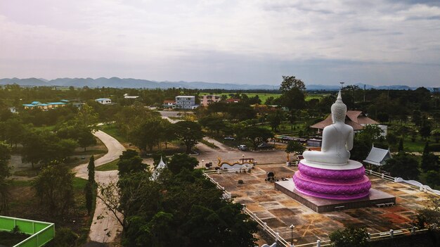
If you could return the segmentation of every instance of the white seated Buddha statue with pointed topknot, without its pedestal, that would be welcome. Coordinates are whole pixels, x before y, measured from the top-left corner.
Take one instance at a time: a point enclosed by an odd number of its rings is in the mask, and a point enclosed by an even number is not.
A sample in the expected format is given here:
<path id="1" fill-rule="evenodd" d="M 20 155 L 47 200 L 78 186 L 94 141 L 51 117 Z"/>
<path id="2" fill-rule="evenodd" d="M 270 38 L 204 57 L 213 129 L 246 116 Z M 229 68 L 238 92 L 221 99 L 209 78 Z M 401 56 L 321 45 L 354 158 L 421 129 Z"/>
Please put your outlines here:
<path id="1" fill-rule="evenodd" d="M 346 165 L 353 148 L 353 127 L 345 124 L 347 106 L 342 102 L 341 91 L 332 104 L 332 125 L 323 129 L 323 144 L 321 151 L 304 151 L 307 163 L 321 165 Z"/>

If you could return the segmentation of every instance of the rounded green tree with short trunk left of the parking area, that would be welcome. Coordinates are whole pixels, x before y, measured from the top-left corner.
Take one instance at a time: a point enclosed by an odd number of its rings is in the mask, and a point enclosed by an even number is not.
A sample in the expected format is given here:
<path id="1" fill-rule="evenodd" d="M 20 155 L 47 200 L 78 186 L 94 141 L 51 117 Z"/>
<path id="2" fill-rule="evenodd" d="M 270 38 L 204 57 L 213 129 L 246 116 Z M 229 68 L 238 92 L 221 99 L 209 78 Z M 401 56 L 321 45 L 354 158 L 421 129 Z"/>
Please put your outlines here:
<path id="1" fill-rule="evenodd" d="M 195 144 L 203 138 L 202 127 L 198 122 L 181 121 L 174 124 L 177 139 L 186 145 L 186 153 L 191 153 Z"/>

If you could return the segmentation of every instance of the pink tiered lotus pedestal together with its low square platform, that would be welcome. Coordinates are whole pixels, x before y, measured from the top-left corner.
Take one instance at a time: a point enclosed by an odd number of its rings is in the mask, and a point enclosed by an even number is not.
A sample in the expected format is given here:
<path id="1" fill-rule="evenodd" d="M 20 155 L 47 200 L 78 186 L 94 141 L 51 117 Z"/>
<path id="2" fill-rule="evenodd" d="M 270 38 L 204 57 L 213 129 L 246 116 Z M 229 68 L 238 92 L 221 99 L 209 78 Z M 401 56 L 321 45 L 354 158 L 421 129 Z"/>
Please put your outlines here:
<path id="1" fill-rule="evenodd" d="M 301 160 L 293 178 L 275 187 L 318 213 L 396 203 L 394 196 L 371 188 L 361 163 L 328 167 Z"/>

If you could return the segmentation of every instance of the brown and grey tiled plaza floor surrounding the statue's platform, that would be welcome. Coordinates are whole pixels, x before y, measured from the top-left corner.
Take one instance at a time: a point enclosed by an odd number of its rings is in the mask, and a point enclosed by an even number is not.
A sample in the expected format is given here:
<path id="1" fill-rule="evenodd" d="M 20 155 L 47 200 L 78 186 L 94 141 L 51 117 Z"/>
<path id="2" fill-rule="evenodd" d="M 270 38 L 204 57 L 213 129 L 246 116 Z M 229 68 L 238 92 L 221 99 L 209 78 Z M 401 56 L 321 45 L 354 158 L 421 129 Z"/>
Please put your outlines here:
<path id="1" fill-rule="evenodd" d="M 216 182 L 232 193 L 234 201 L 249 210 L 279 232 L 290 242 L 291 224 L 295 225 L 294 243 L 311 243 L 328 240 L 328 234 L 344 227 L 366 227 L 368 232 L 387 232 L 389 229 L 412 227 L 418 209 L 431 202 L 431 195 L 406 184 L 394 183 L 370 176 L 374 189 L 396 196 L 396 205 L 387 208 L 358 208 L 330 213 L 315 213 L 265 182 L 266 172 L 276 172 L 276 177 L 292 177 L 296 167 L 285 165 L 258 165 L 250 173 L 210 174 Z M 238 180 L 243 184 L 238 184 Z"/>

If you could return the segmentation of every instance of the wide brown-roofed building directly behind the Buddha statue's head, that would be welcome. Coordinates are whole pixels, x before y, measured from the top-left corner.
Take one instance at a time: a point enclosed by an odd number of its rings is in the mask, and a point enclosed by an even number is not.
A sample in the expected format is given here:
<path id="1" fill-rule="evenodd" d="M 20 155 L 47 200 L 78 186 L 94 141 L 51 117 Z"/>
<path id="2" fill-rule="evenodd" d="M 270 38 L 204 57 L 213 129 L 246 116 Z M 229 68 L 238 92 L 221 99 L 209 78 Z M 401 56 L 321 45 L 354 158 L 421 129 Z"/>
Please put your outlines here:
<path id="1" fill-rule="evenodd" d="M 328 115 L 325 120 L 318 122 L 314 125 L 311 125 L 311 128 L 318 129 L 318 132 L 321 132 L 324 127 L 327 127 L 328 125 L 332 125 L 332 115 Z M 367 115 L 365 115 L 360 110 L 347 110 L 347 115 L 345 117 L 345 124 L 350 125 L 353 127 L 353 130 L 359 131 L 363 129 L 365 125 L 377 125 L 377 127 L 380 127 L 382 129 L 382 136 L 387 136 L 387 125 L 380 125 L 379 122 L 376 122 L 375 120 L 368 118 Z"/>

